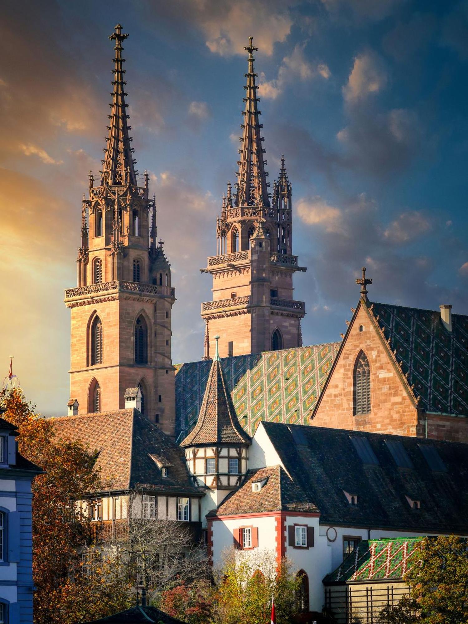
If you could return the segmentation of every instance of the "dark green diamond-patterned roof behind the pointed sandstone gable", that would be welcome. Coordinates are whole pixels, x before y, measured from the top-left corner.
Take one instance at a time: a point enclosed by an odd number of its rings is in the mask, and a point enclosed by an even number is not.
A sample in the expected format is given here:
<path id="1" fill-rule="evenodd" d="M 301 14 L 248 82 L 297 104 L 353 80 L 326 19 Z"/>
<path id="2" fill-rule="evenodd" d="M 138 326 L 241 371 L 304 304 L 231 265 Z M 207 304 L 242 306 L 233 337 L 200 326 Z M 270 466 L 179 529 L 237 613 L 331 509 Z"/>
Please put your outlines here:
<path id="1" fill-rule="evenodd" d="M 468 416 L 468 316 L 452 314 L 447 331 L 438 311 L 374 303 L 373 313 L 420 397 L 418 407 Z"/>

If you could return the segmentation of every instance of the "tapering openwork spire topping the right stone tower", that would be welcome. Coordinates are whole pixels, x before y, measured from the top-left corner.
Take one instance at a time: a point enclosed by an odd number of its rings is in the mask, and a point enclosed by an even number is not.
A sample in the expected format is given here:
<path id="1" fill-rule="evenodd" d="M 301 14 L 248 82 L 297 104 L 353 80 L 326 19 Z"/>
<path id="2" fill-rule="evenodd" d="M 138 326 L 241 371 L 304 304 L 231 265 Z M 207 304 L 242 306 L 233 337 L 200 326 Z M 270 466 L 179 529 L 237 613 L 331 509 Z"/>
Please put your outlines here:
<path id="1" fill-rule="evenodd" d="M 261 111 L 258 110 L 257 103 L 260 98 L 256 97 L 255 78 L 258 74 L 253 71 L 253 52 L 258 48 L 253 46 L 253 37 L 249 37 L 249 45 L 244 48 L 248 56 L 248 72 L 245 74 L 247 84 L 244 102 L 245 110 L 243 111 L 244 122 L 241 124 L 243 135 L 240 137 L 242 147 L 239 150 L 240 160 L 237 164 L 239 170 L 236 183 L 236 206 L 270 206 L 268 198 L 268 182 L 266 177 L 268 173 L 265 171 L 266 160 L 263 159 L 265 149 L 262 147 L 263 137 L 260 130 L 263 124 L 258 121 Z"/>

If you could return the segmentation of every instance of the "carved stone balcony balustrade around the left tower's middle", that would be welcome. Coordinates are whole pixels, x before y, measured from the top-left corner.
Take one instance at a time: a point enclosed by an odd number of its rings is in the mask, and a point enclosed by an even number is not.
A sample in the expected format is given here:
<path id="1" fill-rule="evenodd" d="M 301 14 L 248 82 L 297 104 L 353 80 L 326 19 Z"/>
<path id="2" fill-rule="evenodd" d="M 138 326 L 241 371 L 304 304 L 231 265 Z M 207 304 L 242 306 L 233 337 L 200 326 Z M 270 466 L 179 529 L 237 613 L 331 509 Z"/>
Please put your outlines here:
<path id="1" fill-rule="evenodd" d="M 65 291 L 65 303 L 67 307 L 77 305 L 80 301 L 99 300 L 99 298 L 119 293 L 134 293 L 145 297 L 168 297 L 175 298 L 175 288 L 170 286 L 156 286 L 153 284 L 142 284 L 137 281 L 104 281 L 99 284 L 88 286 L 77 286 L 68 288 Z"/>

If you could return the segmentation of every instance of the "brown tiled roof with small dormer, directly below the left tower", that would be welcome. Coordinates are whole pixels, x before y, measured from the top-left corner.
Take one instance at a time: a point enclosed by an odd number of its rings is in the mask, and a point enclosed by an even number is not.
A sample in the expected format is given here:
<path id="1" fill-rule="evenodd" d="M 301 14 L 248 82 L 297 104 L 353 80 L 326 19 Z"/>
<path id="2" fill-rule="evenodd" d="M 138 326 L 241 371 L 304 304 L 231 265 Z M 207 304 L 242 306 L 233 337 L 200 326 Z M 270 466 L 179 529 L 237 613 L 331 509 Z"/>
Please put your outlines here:
<path id="1" fill-rule="evenodd" d="M 144 484 L 200 495 L 188 475 L 182 449 L 137 409 L 64 416 L 53 422 L 58 437 L 81 440 L 91 452 L 97 452 L 96 465 L 106 490 L 122 491 Z M 170 462 L 167 477 L 162 476 L 152 455 Z"/>

